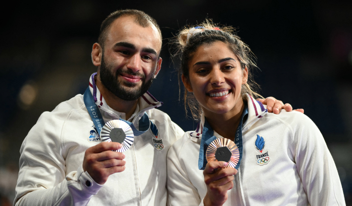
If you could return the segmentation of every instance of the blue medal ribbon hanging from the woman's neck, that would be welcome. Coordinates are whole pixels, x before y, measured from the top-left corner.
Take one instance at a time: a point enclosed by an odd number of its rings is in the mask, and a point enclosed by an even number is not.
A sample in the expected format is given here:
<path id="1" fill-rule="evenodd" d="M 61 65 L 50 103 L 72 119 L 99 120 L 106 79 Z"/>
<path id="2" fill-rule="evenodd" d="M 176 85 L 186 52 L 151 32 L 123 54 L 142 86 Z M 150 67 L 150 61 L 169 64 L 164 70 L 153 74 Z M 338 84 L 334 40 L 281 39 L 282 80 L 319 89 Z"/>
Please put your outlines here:
<path id="1" fill-rule="evenodd" d="M 242 115 L 240 118 L 240 122 L 237 127 L 235 139 L 234 139 L 235 140 L 234 142 L 235 142 L 235 144 L 238 148 L 238 151 L 239 151 L 239 160 L 238 160 L 237 165 L 235 166 L 235 169 L 239 168 L 239 165 L 240 165 L 241 159 L 242 159 L 242 152 L 243 152 L 242 124 L 243 124 L 243 118 L 247 114 L 248 114 L 248 106 L 246 104 L 244 104 L 244 109 L 243 109 L 243 112 L 242 112 Z M 199 159 L 198 159 L 198 168 L 201 170 L 204 170 L 205 166 L 208 163 L 205 151 L 207 151 L 208 146 L 214 140 L 216 140 L 216 137 L 214 136 L 214 130 L 213 130 L 213 128 L 210 127 L 207 119 L 205 118 L 203 132 L 202 132 L 202 139 L 201 139 L 201 147 L 199 149 Z"/>

